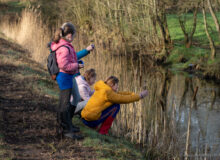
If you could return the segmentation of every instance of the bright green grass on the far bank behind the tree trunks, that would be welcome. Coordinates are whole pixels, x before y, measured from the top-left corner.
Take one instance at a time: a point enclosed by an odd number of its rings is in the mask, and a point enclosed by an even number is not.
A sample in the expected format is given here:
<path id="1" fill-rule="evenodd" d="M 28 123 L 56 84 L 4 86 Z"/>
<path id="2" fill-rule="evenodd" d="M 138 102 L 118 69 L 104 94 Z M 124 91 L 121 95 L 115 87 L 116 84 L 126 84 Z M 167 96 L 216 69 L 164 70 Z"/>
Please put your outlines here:
<path id="1" fill-rule="evenodd" d="M 214 60 L 210 57 L 209 41 L 205 34 L 203 15 L 198 13 L 197 15 L 197 27 L 193 36 L 193 45 L 190 48 L 186 48 L 184 45 L 184 34 L 180 28 L 178 16 L 168 15 L 168 27 L 171 34 L 171 39 L 174 42 L 174 48 L 171 50 L 170 56 L 167 58 L 167 63 L 172 64 L 171 67 L 174 70 L 183 70 L 189 66 L 189 64 L 199 64 L 204 70 L 212 67 L 213 69 L 219 65 L 219 56 Z M 216 13 L 220 21 L 220 12 Z M 191 31 L 193 24 L 193 14 L 186 14 L 186 28 L 187 31 Z M 210 14 L 207 13 L 207 23 L 209 26 L 209 33 L 215 42 L 216 46 L 220 46 L 220 39 L 215 28 L 214 21 Z M 217 54 L 219 51 L 217 51 Z"/>

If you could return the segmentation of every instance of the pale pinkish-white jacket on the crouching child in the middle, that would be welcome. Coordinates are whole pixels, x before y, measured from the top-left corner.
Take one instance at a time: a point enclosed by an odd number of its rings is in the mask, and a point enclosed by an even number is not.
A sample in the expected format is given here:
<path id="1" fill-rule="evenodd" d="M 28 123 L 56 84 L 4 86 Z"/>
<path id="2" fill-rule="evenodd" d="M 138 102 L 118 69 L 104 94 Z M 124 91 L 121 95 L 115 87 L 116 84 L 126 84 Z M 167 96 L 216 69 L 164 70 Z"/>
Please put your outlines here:
<path id="1" fill-rule="evenodd" d="M 84 79 L 83 76 L 77 76 L 75 77 L 75 79 L 78 85 L 80 97 L 83 100 L 89 100 L 92 94 L 94 93 L 94 91 L 91 90 L 89 84 L 87 83 L 87 81 Z"/>

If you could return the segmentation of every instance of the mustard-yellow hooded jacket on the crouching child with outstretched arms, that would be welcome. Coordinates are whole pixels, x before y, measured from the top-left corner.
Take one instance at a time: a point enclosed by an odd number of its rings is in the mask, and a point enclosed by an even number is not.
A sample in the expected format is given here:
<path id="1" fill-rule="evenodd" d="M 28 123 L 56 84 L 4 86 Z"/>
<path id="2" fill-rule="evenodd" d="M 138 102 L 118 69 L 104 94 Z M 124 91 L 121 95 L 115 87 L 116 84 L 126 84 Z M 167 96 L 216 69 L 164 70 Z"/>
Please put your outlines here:
<path id="1" fill-rule="evenodd" d="M 95 92 L 81 112 L 87 121 L 98 120 L 102 111 L 113 104 L 125 104 L 140 100 L 140 96 L 132 92 L 115 92 L 104 81 L 94 85 Z"/>

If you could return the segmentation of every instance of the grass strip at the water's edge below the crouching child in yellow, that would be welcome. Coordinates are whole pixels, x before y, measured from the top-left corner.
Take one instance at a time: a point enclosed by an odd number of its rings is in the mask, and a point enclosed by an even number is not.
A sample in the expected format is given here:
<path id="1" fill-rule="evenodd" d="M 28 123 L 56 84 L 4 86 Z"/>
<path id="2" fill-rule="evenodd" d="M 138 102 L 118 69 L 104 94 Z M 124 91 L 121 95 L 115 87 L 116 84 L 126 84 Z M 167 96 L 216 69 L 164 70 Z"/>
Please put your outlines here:
<path id="1" fill-rule="evenodd" d="M 86 127 L 78 118 L 74 118 L 73 123 L 80 126 L 86 137 L 83 145 L 93 147 L 97 151 L 98 159 L 144 159 L 140 150 L 124 138 L 100 135 L 95 130 Z"/>

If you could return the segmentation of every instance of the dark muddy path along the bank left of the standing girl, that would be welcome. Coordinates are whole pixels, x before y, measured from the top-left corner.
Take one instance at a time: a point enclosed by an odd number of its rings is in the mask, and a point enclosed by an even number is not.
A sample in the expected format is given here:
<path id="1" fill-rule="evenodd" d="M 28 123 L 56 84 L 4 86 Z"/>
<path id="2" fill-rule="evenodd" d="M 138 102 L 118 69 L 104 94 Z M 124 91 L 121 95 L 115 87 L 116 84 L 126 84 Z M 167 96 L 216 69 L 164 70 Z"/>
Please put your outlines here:
<path id="1" fill-rule="evenodd" d="M 95 159 L 95 151 L 82 141 L 56 138 L 57 100 L 30 87 L 40 77 L 21 74 L 20 64 L 39 66 L 28 53 L 0 38 L 0 56 L 0 159 Z"/>

